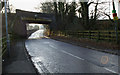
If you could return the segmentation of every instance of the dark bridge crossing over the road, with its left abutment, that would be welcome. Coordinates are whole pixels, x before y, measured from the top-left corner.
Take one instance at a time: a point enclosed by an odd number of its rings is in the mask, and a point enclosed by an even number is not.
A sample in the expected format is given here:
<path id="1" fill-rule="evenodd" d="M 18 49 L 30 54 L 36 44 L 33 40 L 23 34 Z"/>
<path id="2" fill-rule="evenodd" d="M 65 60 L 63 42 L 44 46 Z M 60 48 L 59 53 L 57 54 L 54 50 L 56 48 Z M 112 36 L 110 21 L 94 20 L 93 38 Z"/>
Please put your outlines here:
<path id="1" fill-rule="evenodd" d="M 15 20 L 13 25 L 13 31 L 19 36 L 27 38 L 26 24 L 35 23 L 35 24 L 48 24 L 50 27 L 55 25 L 55 16 L 54 14 L 47 13 L 38 13 L 38 12 L 29 12 L 23 10 L 16 10 L 13 20 Z M 11 19 L 10 18 L 10 19 Z M 30 33 L 31 34 L 31 33 Z"/>

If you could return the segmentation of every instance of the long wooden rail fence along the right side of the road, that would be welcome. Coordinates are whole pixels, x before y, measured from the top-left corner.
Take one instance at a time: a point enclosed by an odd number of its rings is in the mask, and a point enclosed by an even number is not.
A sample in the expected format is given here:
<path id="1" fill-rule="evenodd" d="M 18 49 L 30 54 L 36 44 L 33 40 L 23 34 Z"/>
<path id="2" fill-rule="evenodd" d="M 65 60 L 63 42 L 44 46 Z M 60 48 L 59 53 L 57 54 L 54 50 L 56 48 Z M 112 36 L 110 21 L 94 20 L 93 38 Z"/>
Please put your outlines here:
<path id="1" fill-rule="evenodd" d="M 120 41 L 120 31 L 118 31 L 118 40 L 116 40 L 115 31 L 106 31 L 106 30 L 103 30 L 103 31 L 53 31 L 52 35 L 86 38 L 86 39 L 93 39 L 97 41 L 109 41 L 109 42 Z"/>

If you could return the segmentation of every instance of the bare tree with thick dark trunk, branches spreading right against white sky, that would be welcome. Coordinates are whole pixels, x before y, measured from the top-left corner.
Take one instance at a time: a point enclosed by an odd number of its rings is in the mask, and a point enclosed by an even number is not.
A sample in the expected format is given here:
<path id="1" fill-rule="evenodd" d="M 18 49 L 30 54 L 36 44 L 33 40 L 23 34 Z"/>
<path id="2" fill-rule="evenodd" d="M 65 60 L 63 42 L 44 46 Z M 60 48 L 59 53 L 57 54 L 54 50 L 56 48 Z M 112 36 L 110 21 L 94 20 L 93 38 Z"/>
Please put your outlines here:
<path id="1" fill-rule="evenodd" d="M 105 5 L 108 3 L 108 1 L 89 1 L 89 2 L 80 2 L 81 7 L 79 8 L 79 13 L 81 13 L 81 18 L 83 21 L 83 25 L 86 29 L 94 28 L 93 25 L 96 25 L 96 20 L 103 17 L 103 16 L 109 16 L 109 13 L 106 12 L 107 9 Z M 102 7 L 104 6 L 104 7 Z M 90 9 L 90 7 L 92 7 Z M 106 11 L 105 11 L 106 9 Z M 102 11 L 102 13 L 100 12 Z M 90 13 L 90 14 L 89 14 Z M 104 13 L 104 14 L 103 14 Z M 110 18 L 110 16 L 109 16 Z"/>

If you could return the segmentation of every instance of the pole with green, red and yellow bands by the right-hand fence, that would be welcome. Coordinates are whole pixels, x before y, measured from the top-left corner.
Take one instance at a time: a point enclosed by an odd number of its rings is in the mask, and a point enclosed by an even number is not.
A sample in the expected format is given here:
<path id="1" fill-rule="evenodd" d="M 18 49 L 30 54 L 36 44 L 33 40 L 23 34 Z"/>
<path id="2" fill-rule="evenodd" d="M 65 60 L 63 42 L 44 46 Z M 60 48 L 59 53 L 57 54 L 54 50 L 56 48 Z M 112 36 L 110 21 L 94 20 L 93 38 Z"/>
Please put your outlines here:
<path id="1" fill-rule="evenodd" d="M 112 0 L 112 4 L 113 4 L 113 20 L 114 20 L 114 23 L 115 23 L 115 33 L 116 33 L 116 43 L 118 44 L 118 17 L 117 17 L 117 13 L 116 13 L 116 10 L 115 10 L 115 3 L 114 3 L 114 0 Z"/>

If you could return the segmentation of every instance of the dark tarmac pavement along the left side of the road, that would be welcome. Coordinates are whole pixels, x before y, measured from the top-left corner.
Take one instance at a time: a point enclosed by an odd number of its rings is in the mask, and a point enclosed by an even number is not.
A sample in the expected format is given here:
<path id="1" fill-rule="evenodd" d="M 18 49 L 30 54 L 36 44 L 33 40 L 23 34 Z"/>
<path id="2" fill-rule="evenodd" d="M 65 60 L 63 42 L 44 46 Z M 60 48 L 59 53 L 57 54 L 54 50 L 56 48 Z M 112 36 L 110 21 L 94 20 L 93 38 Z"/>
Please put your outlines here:
<path id="1" fill-rule="evenodd" d="M 38 75 L 25 48 L 25 40 L 11 44 L 9 57 L 3 62 L 3 75 Z"/>

